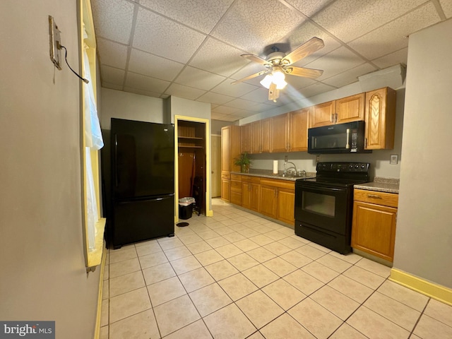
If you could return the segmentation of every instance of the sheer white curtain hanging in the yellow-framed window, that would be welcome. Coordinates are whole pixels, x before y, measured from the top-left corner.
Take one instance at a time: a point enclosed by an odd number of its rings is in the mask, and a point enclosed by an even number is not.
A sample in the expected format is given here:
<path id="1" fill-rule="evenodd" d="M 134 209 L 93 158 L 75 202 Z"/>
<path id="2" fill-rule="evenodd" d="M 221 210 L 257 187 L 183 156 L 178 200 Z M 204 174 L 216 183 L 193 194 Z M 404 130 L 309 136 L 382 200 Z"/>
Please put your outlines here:
<path id="1" fill-rule="evenodd" d="M 86 39 L 86 34 L 84 38 Z M 99 220 L 97 213 L 97 199 L 95 194 L 93 166 L 91 165 L 91 150 L 100 150 L 104 146 L 102 139 L 102 133 L 100 131 L 99 118 L 97 117 L 97 107 L 94 97 L 93 82 L 91 81 L 90 62 L 88 59 L 88 53 L 86 50 L 89 48 L 86 44 L 83 46 L 83 58 L 84 58 L 84 74 L 83 76 L 88 79 L 89 83 L 83 83 L 83 93 L 85 100 L 83 102 L 85 112 L 85 166 L 86 166 L 86 200 L 87 200 L 87 236 L 88 236 L 88 249 L 93 251 L 95 249 L 95 236 L 96 228 L 95 224 Z"/>

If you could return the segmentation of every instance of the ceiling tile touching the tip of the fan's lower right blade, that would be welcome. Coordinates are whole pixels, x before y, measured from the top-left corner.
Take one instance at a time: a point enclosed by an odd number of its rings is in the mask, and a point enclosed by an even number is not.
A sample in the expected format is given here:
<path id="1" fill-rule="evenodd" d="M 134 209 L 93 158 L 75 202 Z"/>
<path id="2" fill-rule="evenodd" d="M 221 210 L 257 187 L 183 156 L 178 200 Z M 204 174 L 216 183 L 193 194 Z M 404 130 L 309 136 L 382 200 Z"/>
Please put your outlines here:
<path id="1" fill-rule="evenodd" d="M 365 60 L 357 56 L 357 54 L 350 51 L 346 47 L 339 47 L 333 52 L 316 59 L 309 63 L 307 67 L 310 69 L 322 69 L 323 74 L 316 78 L 317 81 L 331 78 L 339 73 L 343 73 L 348 69 L 353 69 L 360 64 L 364 64 Z"/>

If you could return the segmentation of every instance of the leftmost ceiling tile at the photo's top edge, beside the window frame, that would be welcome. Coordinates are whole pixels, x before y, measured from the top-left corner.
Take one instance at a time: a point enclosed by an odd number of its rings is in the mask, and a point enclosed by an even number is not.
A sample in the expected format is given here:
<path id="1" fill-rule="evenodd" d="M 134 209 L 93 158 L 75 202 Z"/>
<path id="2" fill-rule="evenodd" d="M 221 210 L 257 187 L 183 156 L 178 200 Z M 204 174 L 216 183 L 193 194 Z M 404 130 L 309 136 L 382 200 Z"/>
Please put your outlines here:
<path id="1" fill-rule="evenodd" d="M 135 4 L 124 0 L 91 1 L 97 37 L 128 44 Z"/>

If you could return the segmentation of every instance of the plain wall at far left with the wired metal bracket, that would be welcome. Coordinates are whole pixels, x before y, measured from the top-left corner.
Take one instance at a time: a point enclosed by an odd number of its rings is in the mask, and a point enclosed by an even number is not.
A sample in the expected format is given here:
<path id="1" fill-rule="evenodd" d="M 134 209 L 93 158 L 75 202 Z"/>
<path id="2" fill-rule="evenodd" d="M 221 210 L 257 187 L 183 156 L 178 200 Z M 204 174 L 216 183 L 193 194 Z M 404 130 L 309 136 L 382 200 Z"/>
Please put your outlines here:
<path id="1" fill-rule="evenodd" d="M 100 279 L 85 271 L 81 81 L 49 59 L 52 15 L 79 69 L 77 4 L 0 2 L 0 319 L 69 339 L 93 338 Z"/>

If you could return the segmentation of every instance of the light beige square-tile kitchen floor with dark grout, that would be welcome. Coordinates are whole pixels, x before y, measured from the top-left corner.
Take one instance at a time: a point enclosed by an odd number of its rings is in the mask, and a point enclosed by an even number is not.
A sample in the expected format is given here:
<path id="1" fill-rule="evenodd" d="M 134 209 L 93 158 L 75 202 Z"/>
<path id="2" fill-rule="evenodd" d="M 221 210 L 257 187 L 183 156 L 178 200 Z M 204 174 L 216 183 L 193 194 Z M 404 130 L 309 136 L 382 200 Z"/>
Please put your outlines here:
<path id="1" fill-rule="evenodd" d="M 213 211 L 108 251 L 102 339 L 452 338 L 452 307 L 388 267 L 219 199 Z"/>

